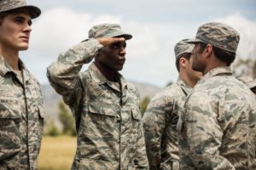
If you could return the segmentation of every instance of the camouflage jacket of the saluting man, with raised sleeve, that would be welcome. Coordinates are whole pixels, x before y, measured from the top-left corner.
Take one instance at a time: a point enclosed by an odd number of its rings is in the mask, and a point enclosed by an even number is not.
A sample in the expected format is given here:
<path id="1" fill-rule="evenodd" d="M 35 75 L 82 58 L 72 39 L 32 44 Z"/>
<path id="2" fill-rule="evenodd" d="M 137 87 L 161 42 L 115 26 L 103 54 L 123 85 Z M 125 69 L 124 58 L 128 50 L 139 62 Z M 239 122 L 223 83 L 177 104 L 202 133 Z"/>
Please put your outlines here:
<path id="1" fill-rule="evenodd" d="M 79 72 L 102 45 L 81 42 L 48 67 L 48 78 L 76 119 L 78 148 L 73 169 L 148 169 L 139 94 L 119 75 L 121 89 L 96 65 Z"/>

